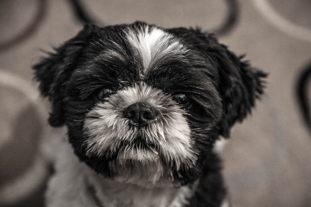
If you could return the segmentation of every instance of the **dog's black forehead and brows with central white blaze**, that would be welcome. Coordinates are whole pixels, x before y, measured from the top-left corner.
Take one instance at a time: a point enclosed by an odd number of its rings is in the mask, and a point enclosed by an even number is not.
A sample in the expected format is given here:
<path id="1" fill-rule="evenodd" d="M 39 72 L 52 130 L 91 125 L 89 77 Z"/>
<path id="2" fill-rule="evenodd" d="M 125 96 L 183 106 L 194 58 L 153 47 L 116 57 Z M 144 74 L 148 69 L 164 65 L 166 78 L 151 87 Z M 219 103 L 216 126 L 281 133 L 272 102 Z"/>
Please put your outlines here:
<path id="1" fill-rule="evenodd" d="M 83 97 L 100 88 L 117 91 L 140 81 L 167 93 L 214 90 L 210 75 L 202 70 L 215 73 L 209 59 L 183 35 L 154 25 L 102 28 L 81 60 L 67 85 Z"/>

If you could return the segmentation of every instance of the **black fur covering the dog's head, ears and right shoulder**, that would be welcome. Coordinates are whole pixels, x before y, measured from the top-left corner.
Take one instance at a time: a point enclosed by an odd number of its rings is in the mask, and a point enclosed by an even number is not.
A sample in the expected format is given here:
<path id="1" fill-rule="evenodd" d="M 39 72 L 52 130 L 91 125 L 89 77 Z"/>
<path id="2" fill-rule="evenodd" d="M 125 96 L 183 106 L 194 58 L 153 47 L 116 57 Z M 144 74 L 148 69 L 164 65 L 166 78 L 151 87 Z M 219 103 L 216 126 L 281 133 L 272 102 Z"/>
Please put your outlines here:
<path id="1" fill-rule="evenodd" d="M 53 104 L 49 123 L 67 125 L 69 141 L 80 160 L 107 177 L 114 176 L 109 162 L 115 158 L 86 156 L 83 121 L 99 101 L 98 94 L 103 88 L 118 91 L 141 81 L 142 66 L 124 38 L 125 27 L 141 25 L 146 23 L 104 28 L 86 25 L 75 38 L 34 66 L 40 90 Z M 225 188 L 220 161 L 212 152 L 212 146 L 219 135 L 229 137 L 232 125 L 250 112 L 255 99 L 263 92 L 262 78 L 266 75 L 241 61 L 241 57 L 219 44 L 212 34 L 186 28 L 165 31 L 189 49 L 184 54 L 187 61 L 168 54 L 143 81 L 168 94 L 186 94 L 191 101 L 192 107 L 185 110 L 191 128 L 201 128 L 193 130 L 200 156 L 192 169 L 175 170 L 174 179 L 187 184 L 201 178 L 190 206 L 219 206 Z M 107 50 L 118 52 L 122 60 L 103 52 Z"/>

